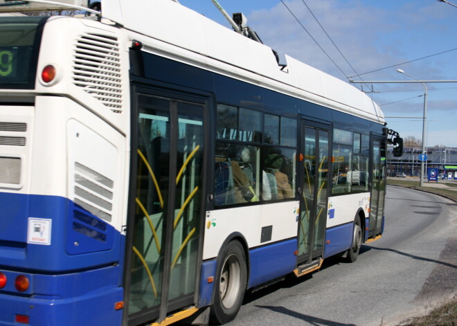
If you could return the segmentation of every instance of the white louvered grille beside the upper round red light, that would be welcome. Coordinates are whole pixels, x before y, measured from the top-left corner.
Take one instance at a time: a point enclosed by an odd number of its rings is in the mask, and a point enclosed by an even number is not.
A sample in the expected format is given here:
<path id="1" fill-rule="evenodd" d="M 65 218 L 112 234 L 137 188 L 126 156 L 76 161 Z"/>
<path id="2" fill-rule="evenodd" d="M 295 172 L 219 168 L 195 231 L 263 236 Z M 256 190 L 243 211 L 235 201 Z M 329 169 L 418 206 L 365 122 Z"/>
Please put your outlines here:
<path id="1" fill-rule="evenodd" d="M 122 112 L 119 52 L 116 37 L 86 34 L 77 40 L 73 60 L 73 84 L 118 114 Z"/>

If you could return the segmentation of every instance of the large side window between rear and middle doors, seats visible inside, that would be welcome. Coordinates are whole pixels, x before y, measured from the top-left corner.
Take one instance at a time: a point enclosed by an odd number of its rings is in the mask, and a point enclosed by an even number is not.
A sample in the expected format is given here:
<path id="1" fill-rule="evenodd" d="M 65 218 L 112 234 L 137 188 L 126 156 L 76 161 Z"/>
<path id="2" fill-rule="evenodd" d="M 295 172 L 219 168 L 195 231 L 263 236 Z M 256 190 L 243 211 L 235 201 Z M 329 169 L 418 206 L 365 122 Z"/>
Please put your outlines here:
<path id="1" fill-rule="evenodd" d="M 296 120 L 217 105 L 215 206 L 291 199 Z"/>

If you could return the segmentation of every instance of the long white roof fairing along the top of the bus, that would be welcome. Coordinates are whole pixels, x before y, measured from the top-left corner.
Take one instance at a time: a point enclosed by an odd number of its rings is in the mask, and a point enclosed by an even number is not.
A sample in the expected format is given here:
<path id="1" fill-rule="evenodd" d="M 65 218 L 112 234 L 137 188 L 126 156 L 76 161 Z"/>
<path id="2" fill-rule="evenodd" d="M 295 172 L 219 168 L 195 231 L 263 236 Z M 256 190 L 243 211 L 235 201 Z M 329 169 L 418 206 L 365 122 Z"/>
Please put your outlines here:
<path id="1" fill-rule="evenodd" d="M 365 93 L 332 75 L 285 56 L 281 71 L 271 48 L 221 26 L 172 0 L 102 0 L 102 16 L 128 30 L 224 62 L 263 87 L 384 124 L 384 114 Z M 233 73 L 233 71 L 231 71 Z M 233 74 L 232 74 L 233 75 Z"/>

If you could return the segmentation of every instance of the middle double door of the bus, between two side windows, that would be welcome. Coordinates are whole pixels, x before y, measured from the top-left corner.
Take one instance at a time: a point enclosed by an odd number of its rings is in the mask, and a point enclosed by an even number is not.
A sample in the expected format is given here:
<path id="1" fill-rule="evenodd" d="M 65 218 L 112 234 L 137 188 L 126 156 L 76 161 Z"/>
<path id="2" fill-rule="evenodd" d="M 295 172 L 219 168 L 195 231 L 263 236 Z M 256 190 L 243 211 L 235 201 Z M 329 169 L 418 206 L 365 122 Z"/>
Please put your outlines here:
<path id="1" fill-rule="evenodd" d="M 298 264 L 323 257 L 330 191 L 330 128 L 305 122 L 302 138 Z"/>

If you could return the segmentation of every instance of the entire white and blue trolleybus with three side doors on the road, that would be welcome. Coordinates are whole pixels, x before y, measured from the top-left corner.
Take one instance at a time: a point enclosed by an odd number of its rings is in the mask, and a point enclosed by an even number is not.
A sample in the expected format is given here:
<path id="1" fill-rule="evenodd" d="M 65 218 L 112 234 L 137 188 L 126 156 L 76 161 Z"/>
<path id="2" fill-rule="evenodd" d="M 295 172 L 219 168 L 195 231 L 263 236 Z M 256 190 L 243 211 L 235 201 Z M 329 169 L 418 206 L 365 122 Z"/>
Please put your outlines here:
<path id="1" fill-rule="evenodd" d="M 363 92 L 177 1 L 20 13 L 57 2 L 0 1 L 0 325 L 223 324 L 381 237 Z"/>

